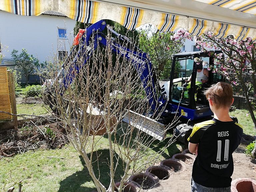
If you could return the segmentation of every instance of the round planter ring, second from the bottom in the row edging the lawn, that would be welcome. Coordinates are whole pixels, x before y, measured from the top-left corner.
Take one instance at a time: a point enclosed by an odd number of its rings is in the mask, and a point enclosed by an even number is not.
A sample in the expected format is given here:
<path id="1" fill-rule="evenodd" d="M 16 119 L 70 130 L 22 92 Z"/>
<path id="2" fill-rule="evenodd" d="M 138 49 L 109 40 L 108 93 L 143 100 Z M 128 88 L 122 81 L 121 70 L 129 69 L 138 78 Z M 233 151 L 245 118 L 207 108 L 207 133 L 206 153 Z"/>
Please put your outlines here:
<path id="1" fill-rule="evenodd" d="M 151 189 L 159 182 L 158 178 L 155 175 L 152 175 L 151 173 L 138 173 L 132 175 L 129 178 L 129 182 L 131 181 L 138 183 L 142 189 Z"/>

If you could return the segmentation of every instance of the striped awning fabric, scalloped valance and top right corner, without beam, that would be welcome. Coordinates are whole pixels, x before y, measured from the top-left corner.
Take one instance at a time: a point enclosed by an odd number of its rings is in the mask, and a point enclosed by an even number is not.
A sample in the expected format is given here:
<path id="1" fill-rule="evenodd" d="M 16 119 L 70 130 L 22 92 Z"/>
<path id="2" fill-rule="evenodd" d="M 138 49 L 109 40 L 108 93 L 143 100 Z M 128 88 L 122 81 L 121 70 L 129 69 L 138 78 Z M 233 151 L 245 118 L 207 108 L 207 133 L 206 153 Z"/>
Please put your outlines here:
<path id="1" fill-rule="evenodd" d="M 243 7 L 238 7 L 238 0 L 197 0 L 217 6 L 227 6 L 244 11 L 255 11 L 253 1 L 244 0 Z M 250 4 L 250 5 L 249 5 Z M 186 28 L 192 35 L 201 35 L 212 31 L 217 37 L 234 35 L 242 40 L 246 37 L 256 39 L 256 29 L 237 25 L 225 24 L 216 21 L 195 19 L 192 17 L 178 16 L 151 10 L 143 10 L 133 7 L 125 7 L 117 4 L 96 2 L 91 0 L 1 0 L 0 9 L 18 15 L 40 15 L 44 11 L 53 10 L 61 12 L 71 19 L 84 23 L 95 23 L 101 19 L 110 19 L 120 23 L 127 29 L 135 29 L 143 24 L 152 24 L 159 31 L 175 31 Z"/>

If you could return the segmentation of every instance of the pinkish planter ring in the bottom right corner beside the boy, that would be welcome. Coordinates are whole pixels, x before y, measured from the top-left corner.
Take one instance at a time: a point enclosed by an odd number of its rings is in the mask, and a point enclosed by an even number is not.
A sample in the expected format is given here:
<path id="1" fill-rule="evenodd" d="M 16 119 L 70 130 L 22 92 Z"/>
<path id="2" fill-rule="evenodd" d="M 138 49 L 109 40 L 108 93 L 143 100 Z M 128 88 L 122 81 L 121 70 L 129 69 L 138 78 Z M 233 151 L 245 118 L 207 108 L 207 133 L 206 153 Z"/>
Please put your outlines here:
<path id="1" fill-rule="evenodd" d="M 239 178 L 231 182 L 231 192 L 256 192 L 256 181 L 251 178 Z"/>

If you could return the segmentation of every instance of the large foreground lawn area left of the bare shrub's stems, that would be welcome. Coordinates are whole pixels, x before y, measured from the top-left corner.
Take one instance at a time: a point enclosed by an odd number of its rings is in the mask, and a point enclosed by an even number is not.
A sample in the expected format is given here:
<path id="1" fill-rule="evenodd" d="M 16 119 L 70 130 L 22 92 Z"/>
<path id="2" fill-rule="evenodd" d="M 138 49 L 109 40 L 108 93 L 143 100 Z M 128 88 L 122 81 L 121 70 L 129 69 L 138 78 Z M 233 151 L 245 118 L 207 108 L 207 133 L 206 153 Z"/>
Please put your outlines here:
<path id="1" fill-rule="evenodd" d="M 49 159 L 47 156 L 65 159 Z M 94 187 L 79 155 L 71 146 L 59 150 L 26 152 L 11 158 L 3 158 L 0 162 L 1 191 L 7 191 L 19 180 L 22 180 L 23 192 L 91 191 Z M 83 187 L 83 184 L 86 187 Z"/>

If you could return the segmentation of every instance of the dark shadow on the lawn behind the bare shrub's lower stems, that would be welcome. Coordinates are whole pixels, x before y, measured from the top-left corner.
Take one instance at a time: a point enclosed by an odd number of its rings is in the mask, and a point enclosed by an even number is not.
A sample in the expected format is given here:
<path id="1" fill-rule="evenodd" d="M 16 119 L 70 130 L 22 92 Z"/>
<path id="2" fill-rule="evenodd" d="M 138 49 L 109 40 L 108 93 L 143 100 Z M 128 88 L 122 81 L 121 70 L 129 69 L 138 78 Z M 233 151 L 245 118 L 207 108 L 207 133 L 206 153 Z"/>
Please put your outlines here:
<path id="1" fill-rule="evenodd" d="M 88 157 L 91 155 L 91 153 L 87 154 Z M 98 161 L 97 161 L 98 156 Z M 117 154 L 115 154 L 116 158 L 114 157 L 114 166 L 117 164 Z M 87 170 L 87 167 L 85 166 L 85 162 L 82 158 L 82 156 L 79 156 L 82 165 L 84 166 L 84 169 L 81 171 L 77 171 L 76 173 L 68 176 L 66 179 L 60 182 L 60 188 L 58 192 L 92 192 L 96 191 L 96 188 L 94 187 L 93 180 L 91 176 L 89 175 L 89 172 Z M 98 150 L 97 154 L 96 152 L 93 153 L 93 171 L 96 177 L 99 177 L 99 171 L 100 170 L 100 182 L 107 188 L 110 183 L 110 169 L 109 169 L 109 150 L 108 149 L 102 149 Z M 115 173 L 114 180 L 116 182 L 120 181 L 121 177 L 120 175 L 124 174 L 122 166 L 125 166 L 125 163 L 120 159 L 119 165 L 117 168 L 117 171 Z M 90 183 L 90 184 L 89 184 Z M 87 187 L 91 186 L 92 187 Z"/>

